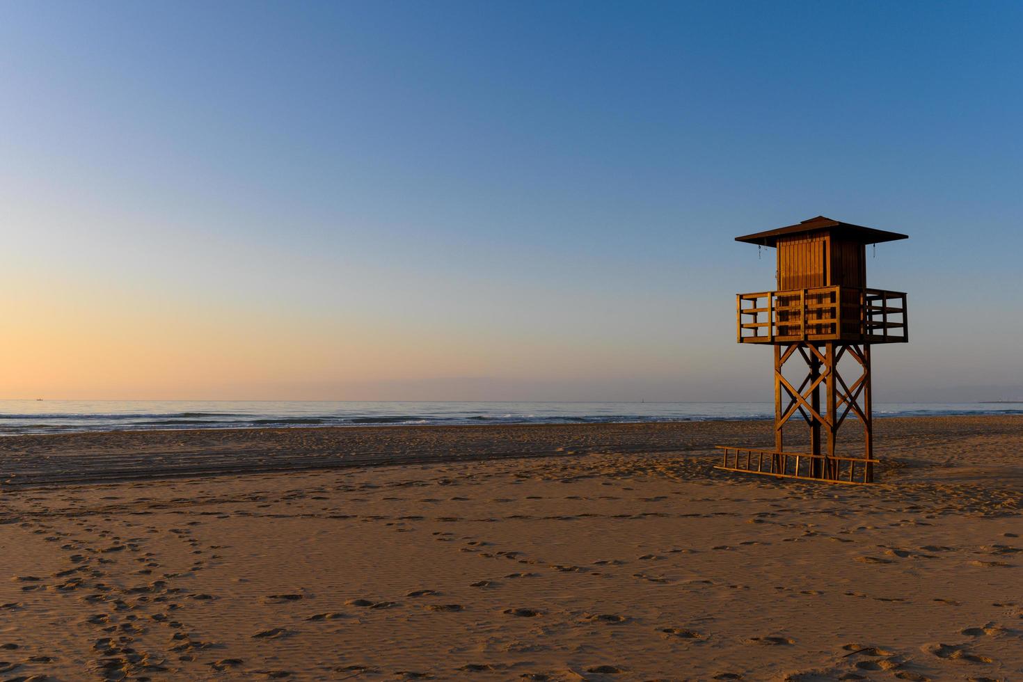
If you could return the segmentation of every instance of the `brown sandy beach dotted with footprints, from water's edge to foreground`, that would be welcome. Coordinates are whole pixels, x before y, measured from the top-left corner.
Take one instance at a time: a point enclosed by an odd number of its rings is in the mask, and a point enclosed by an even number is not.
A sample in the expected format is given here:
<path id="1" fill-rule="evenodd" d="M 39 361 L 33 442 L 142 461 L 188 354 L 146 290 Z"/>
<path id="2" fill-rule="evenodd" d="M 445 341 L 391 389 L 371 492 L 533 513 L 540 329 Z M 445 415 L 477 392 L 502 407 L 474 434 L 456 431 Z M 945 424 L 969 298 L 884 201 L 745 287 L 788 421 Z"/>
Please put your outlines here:
<path id="1" fill-rule="evenodd" d="M 769 422 L 4 439 L 0 679 L 1021 679 L 1023 419 L 876 434 L 869 487 L 713 469 Z"/>

